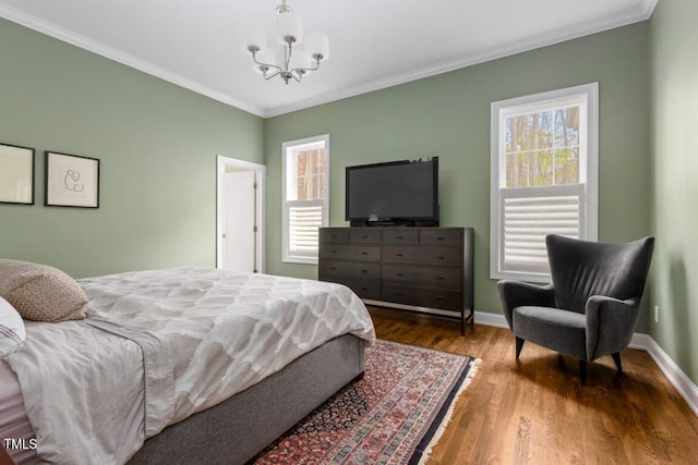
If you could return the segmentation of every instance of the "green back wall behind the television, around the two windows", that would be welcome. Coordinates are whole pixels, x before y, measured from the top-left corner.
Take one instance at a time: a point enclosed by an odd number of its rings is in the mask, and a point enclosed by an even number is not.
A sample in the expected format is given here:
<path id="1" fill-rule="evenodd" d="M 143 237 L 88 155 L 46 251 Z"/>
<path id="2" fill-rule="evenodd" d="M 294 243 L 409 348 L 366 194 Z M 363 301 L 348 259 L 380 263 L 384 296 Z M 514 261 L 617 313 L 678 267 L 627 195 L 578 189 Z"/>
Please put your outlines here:
<path id="1" fill-rule="evenodd" d="M 328 133 L 330 225 L 347 224 L 345 167 L 440 157 L 442 225 L 474 228 L 476 309 L 500 313 L 490 279 L 490 103 L 590 82 L 600 93 L 600 240 L 648 235 L 648 36 L 643 22 L 267 120 L 267 271 L 316 277 L 314 266 L 281 262 L 274 231 L 281 143 Z"/>

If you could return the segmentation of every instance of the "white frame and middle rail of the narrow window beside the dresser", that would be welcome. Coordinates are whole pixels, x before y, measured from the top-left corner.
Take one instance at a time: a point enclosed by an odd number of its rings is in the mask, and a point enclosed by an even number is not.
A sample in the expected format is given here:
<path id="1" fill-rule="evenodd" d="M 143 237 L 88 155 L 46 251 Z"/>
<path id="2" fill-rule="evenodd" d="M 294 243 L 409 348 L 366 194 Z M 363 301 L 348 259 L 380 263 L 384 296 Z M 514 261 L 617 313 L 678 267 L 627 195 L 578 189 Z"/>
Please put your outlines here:
<path id="1" fill-rule="evenodd" d="M 313 146 L 323 147 L 325 149 L 325 198 L 316 200 L 289 200 L 288 188 L 289 186 L 289 170 L 297 168 L 298 152 L 312 149 Z M 292 161 L 292 163 L 291 163 Z M 296 171 L 297 172 L 297 171 Z M 293 182 L 298 176 L 293 178 Z M 298 186 L 294 187 L 298 192 Z M 322 211 L 322 224 L 321 227 L 327 227 L 329 224 L 329 134 L 320 136 L 305 137 L 297 140 L 288 140 L 281 144 L 281 242 L 282 242 L 282 256 L 284 262 L 290 264 L 317 264 L 317 248 L 313 252 L 301 252 L 290 249 L 290 208 L 292 206 L 299 206 L 301 204 L 315 204 L 320 203 Z"/>

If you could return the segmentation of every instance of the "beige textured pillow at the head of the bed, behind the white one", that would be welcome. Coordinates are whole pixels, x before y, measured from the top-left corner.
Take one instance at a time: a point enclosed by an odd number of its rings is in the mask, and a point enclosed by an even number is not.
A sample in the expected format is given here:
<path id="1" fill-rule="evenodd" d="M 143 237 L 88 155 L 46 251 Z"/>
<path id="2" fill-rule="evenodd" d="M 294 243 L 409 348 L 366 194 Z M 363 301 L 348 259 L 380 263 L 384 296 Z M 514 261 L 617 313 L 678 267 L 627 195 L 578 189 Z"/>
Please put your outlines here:
<path id="1" fill-rule="evenodd" d="M 25 320 L 85 318 L 87 295 L 74 279 L 47 265 L 0 259 L 0 296 Z"/>

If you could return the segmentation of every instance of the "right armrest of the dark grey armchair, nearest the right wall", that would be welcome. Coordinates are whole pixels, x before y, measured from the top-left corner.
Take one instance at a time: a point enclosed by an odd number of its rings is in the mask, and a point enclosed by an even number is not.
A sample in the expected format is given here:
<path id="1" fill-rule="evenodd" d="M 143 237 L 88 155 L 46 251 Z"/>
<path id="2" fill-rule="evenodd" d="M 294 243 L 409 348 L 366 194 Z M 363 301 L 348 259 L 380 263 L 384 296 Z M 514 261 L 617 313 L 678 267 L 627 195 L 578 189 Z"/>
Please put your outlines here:
<path id="1" fill-rule="evenodd" d="M 587 359 L 593 360 L 627 347 L 639 315 L 639 298 L 589 297 L 586 307 Z"/>

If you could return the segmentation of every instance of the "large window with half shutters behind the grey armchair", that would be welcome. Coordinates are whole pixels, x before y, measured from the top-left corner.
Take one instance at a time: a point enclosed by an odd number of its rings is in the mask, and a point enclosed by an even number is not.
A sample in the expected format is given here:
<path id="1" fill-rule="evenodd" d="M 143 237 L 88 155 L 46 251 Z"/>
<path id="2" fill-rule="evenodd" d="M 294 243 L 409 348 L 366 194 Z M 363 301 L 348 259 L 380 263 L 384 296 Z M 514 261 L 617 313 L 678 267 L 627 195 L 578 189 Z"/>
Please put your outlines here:
<path id="1" fill-rule="evenodd" d="M 545 235 L 598 230 L 599 84 L 492 103 L 490 274 L 544 282 Z"/>

